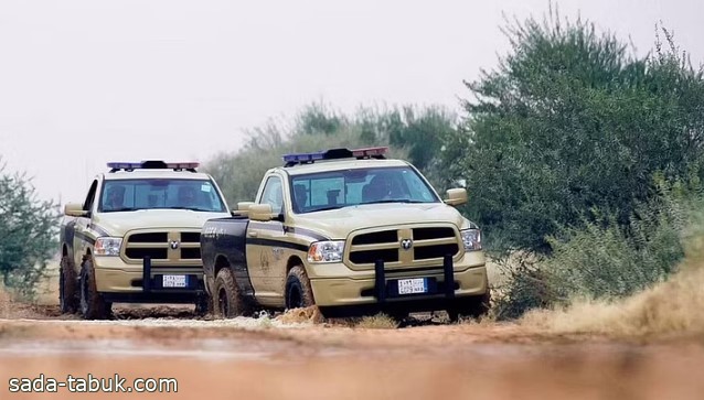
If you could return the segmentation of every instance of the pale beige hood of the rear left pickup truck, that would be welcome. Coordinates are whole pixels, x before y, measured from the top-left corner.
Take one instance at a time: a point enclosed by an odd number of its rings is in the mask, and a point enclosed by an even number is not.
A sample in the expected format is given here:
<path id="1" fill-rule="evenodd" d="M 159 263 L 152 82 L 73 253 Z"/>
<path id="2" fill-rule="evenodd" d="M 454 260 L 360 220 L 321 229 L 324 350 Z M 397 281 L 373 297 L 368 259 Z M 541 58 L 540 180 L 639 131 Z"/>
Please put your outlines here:
<path id="1" fill-rule="evenodd" d="M 228 216 L 228 213 L 203 213 L 190 209 L 140 209 L 96 214 L 93 217 L 93 224 L 110 236 L 122 236 L 130 230 L 146 228 L 201 229 L 207 219 Z"/>

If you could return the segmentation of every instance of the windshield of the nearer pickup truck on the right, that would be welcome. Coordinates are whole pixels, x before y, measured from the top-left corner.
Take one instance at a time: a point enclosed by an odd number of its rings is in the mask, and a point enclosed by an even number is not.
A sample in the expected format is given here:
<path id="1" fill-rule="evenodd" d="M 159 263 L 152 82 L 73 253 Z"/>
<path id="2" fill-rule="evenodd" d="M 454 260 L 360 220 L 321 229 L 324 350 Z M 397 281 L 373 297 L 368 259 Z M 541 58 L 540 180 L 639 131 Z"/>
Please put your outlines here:
<path id="1" fill-rule="evenodd" d="M 440 199 L 408 166 L 354 169 L 295 175 L 294 212 L 311 213 L 372 203 L 437 203 Z"/>

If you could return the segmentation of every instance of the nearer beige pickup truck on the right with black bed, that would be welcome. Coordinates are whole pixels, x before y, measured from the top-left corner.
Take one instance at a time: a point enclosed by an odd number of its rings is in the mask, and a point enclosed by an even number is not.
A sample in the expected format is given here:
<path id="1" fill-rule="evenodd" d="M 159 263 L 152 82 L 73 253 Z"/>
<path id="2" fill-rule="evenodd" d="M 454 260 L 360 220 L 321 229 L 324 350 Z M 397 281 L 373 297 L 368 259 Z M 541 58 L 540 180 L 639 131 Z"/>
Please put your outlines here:
<path id="1" fill-rule="evenodd" d="M 386 148 L 288 154 L 269 170 L 239 216 L 212 219 L 201 235 L 215 311 L 317 305 L 326 316 L 447 310 L 487 311 L 479 228 Z"/>

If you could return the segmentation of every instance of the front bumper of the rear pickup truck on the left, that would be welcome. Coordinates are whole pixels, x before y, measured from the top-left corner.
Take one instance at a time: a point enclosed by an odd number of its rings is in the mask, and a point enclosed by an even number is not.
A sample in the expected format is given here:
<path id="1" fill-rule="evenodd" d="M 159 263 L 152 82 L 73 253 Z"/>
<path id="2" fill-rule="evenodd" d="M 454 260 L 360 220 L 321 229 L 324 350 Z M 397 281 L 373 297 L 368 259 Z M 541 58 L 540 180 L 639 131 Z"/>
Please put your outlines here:
<path id="1" fill-rule="evenodd" d="M 125 302 L 193 302 L 204 295 L 203 268 L 126 263 L 119 257 L 94 257 L 95 283 L 106 300 Z M 186 275 L 185 288 L 163 288 L 163 275 Z M 109 299 L 108 299 L 109 298 Z"/>

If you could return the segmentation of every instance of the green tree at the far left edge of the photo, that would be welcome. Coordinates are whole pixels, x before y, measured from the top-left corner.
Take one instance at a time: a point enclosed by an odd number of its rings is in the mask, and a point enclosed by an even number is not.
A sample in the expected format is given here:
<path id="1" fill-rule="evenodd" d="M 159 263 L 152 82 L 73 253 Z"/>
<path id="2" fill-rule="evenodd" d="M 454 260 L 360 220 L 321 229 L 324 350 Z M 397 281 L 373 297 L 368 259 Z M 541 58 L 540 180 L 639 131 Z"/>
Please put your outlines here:
<path id="1" fill-rule="evenodd" d="M 24 174 L 0 165 L 0 274 L 6 287 L 31 296 L 58 247 L 58 209 L 38 198 Z"/>

